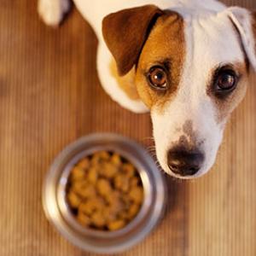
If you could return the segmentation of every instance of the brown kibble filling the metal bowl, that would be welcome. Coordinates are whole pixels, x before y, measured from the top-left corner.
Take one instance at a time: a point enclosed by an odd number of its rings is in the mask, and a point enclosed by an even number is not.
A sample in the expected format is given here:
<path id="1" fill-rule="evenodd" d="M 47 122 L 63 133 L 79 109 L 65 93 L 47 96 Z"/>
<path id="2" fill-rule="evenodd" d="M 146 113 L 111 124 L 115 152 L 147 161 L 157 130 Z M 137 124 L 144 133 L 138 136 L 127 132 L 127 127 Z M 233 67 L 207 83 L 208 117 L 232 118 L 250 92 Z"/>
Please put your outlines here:
<path id="1" fill-rule="evenodd" d="M 119 154 L 97 152 L 73 166 L 67 204 L 85 227 L 122 229 L 137 216 L 142 203 L 143 185 L 137 169 Z"/>

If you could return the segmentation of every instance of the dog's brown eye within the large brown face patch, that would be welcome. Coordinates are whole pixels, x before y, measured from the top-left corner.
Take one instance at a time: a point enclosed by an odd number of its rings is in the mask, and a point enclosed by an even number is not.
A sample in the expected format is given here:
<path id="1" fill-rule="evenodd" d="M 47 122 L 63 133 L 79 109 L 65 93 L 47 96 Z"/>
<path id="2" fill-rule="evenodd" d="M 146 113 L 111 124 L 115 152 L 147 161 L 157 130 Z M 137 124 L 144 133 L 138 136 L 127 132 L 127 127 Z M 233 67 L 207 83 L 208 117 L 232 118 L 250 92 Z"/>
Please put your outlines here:
<path id="1" fill-rule="evenodd" d="M 167 74 L 163 67 L 151 67 L 148 73 L 150 85 L 157 90 L 167 89 Z"/>

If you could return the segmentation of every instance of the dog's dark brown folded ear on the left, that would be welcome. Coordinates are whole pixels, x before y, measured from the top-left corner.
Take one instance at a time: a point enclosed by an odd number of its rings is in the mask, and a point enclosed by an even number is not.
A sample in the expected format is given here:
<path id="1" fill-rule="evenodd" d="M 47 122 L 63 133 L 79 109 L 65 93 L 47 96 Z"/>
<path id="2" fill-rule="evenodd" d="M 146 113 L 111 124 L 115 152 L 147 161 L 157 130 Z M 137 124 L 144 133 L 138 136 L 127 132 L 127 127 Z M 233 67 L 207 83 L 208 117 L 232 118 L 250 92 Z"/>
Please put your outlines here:
<path id="1" fill-rule="evenodd" d="M 128 73 L 137 63 L 150 29 L 162 14 L 158 7 L 145 5 L 124 9 L 104 18 L 103 37 L 117 63 L 120 76 Z"/>

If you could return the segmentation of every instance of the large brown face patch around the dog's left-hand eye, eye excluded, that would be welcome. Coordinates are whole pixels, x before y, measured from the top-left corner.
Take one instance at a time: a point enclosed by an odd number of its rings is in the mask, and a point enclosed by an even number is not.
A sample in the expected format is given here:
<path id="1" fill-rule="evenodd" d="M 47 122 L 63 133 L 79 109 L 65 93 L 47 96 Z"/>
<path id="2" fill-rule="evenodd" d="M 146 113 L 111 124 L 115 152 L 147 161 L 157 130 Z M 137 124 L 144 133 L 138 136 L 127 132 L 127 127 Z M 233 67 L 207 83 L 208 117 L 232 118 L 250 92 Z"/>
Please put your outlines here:
<path id="1" fill-rule="evenodd" d="M 183 18 L 176 12 L 166 11 L 158 18 L 143 47 L 137 65 L 138 94 L 148 108 L 162 111 L 177 91 L 183 70 L 185 39 Z M 154 90 L 148 84 L 147 73 L 155 65 L 165 65 L 168 70 L 169 89 Z"/>

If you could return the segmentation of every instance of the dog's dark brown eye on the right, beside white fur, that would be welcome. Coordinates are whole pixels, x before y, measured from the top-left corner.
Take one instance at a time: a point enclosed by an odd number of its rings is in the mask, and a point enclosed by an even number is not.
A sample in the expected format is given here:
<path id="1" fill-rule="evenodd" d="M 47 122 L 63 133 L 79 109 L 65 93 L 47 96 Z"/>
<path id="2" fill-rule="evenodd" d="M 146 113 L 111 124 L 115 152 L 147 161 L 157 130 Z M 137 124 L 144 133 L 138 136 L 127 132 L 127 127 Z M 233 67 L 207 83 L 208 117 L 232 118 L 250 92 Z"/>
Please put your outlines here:
<path id="1" fill-rule="evenodd" d="M 236 87 L 237 77 L 232 70 L 224 70 L 218 73 L 216 79 L 217 90 L 232 90 Z"/>

